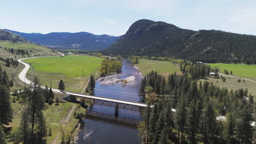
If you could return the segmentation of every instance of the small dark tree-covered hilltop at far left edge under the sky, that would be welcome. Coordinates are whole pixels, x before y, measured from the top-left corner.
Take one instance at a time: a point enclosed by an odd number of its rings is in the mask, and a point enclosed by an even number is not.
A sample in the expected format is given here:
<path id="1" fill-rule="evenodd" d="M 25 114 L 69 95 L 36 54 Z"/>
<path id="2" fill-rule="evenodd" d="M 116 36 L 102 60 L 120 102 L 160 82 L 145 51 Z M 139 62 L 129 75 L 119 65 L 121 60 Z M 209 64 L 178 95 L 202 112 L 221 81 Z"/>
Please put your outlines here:
<path id="1" fill-rule="evenodd" d="M 31 43 L 20 35 L 5 31 L 4 29 L 0 29 L 0 40 L 8 40 L 13 43 Z"/>

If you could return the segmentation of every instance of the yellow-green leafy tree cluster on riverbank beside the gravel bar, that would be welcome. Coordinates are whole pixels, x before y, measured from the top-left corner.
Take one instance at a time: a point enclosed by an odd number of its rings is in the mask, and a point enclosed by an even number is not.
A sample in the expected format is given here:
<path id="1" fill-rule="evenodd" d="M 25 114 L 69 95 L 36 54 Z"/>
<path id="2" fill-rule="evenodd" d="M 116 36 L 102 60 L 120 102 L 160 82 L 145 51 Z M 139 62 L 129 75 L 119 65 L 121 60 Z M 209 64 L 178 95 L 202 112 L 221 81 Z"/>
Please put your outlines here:
<path id="1" fill-rule="evenodd" d="M 107 58 L 101 62 L 100 73 L 102 76 L 121 73 L 122 62 L 114 58 Z"/>

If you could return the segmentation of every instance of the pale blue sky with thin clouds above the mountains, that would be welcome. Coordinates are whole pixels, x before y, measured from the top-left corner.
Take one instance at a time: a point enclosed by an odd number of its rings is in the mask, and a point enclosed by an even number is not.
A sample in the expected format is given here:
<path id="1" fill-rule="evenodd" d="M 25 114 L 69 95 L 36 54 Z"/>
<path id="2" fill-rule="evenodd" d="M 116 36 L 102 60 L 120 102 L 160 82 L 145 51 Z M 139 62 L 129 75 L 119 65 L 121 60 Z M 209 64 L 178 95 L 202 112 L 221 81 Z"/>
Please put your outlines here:
<path id="1" fill-rule="evenodd" d="M 1 2 L 2 1 L 2 2 Z M 140 19 L 256 35 L 255 0 L 0 0 L 0 28 L 123 35 Z"/>

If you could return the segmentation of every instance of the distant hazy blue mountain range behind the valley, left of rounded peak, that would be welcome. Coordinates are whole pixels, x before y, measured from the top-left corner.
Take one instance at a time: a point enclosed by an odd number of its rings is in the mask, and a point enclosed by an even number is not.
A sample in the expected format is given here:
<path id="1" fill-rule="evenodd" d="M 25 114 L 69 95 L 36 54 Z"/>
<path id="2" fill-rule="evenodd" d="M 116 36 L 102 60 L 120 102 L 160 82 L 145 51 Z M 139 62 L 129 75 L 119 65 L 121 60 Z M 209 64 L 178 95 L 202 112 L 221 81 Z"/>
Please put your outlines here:
<path id="1" fill-rule="evenodd" d="M 103 50 L 114 43 L 119 37 L 111 35 L 94 35 L 88 32 L 79 33 L 21 33 L 7 31 L 21 35 L 33 43 L 56 49 Z"/>

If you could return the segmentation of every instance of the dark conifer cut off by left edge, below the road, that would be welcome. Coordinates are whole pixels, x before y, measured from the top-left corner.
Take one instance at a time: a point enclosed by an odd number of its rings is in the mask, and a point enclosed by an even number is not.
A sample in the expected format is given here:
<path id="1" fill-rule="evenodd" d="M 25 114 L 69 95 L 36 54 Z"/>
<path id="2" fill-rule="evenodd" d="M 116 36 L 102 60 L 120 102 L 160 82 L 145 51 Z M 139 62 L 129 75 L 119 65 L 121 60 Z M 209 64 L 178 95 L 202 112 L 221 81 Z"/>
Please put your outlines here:
<path id="1" fill-rule="evenodd" d="M 13 119 L 10 92 L 6 86 L 0 85 L 0 124 L 8 124 Z"/>

